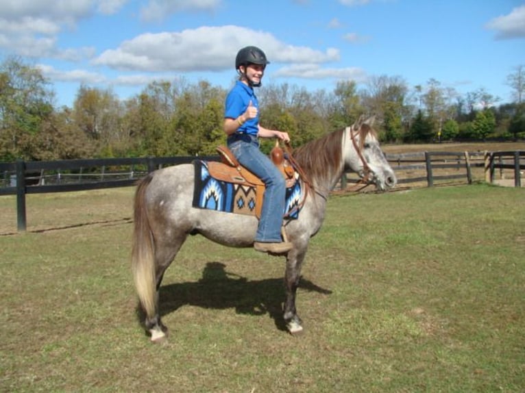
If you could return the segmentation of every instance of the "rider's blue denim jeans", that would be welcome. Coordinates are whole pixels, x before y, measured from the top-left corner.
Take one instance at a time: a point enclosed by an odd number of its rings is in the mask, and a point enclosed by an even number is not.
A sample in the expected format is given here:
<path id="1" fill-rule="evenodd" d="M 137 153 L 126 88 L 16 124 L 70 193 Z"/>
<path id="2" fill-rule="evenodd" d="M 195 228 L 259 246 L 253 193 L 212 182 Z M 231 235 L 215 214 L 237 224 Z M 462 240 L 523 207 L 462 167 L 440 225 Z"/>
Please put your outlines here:
<path id="1" fill-rule="evenodd" d="M 256 136 L 234 134 L 228 147 L 245 168 L 260 177 L 266 190 L 262 199 L 256 242 L 281 242 L 281 225 L 286 197 L 286 183 L 278 168 L 259 149 Z"/>

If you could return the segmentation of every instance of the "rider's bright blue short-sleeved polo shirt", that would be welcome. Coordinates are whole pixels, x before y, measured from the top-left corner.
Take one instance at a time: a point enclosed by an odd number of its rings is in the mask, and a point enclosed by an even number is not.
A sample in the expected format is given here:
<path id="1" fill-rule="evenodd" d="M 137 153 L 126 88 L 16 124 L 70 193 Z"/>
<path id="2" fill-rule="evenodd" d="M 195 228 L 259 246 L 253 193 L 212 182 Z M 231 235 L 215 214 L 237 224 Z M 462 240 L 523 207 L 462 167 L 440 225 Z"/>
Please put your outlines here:
<path id="1" fill-rule="evenodd" d="M 230 90 L 228 96 L 226 96 L 224 118 L 238 118 L 243 114 L 248 105 L 249 101 L 252 101 L 252 105 L 259 109 L 259 101 L 255 96 L 254 89 L 243 84 L 241 81 L 236 81 L 235 86 Z M 241 127 L 237 129 L 239 134 L 250 134 L 257 136 L 259 131 L 259 114 L 257 112 L 256 118 L 247 120 Z"/>

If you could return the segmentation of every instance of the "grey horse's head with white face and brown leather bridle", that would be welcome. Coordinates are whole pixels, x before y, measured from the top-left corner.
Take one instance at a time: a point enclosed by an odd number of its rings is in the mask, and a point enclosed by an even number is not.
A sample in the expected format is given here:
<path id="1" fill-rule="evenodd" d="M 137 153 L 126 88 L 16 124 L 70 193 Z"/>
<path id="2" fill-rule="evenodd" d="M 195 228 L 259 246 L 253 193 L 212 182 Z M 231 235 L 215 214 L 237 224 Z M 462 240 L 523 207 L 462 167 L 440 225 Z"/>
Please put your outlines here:
<path id="1" fill-rule="evenodd" d="M 374 118 L 360 118 L 345 130 L 345 166 L 354 170 L 363 183 L 375 184 L 384 191 L 393 188 L 397 179 L 379 146 L 373 123 Z"/>

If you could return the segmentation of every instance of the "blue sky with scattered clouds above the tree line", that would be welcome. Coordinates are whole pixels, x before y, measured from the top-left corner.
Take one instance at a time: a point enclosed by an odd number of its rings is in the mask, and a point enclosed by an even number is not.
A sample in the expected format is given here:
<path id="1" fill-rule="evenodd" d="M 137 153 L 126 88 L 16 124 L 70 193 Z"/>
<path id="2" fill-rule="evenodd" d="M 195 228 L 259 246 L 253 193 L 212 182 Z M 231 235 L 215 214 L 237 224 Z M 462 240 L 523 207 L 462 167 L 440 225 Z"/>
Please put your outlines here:
<path id="1" fill-rule="evenodd" d="M 524 0 L 0 0 L 0 60 L 37 66 L 72 106 L 80 86 L 119 99 L 152 81 L 230 88 L 255 45 L 264 84 L 332 91 L 338 81 L 430 79 L 512 101 L 525 66 Z"/>

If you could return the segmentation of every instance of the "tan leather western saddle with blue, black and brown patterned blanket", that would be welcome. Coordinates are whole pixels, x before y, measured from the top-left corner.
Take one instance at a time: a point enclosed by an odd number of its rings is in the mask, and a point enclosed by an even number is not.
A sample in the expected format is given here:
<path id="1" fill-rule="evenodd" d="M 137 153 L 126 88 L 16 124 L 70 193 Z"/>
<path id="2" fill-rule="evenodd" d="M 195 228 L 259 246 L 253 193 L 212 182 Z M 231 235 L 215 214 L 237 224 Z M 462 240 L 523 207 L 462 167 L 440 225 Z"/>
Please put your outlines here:
<path id="1" fill-rule="evenodd" d="M 286 181 L 283 215 L 297 218 L 302 195 L 299 175 L 285 159 L 282 149 L 276 148 L 272 149 L 270 156 Z M 218 147 L 217 151 L 221 154 L 222 162 L 194 161 L 193 207 L 260 218 L 265 183 L 241 166 L 228 147 Z"/>

